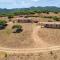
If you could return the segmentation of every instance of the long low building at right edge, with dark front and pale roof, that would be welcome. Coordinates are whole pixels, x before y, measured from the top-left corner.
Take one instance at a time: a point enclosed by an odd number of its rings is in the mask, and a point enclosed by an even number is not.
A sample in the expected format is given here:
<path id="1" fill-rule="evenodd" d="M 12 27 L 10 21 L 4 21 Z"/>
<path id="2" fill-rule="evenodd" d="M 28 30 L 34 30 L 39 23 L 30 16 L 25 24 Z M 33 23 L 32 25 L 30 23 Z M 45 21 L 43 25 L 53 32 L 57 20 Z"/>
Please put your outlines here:
<path id="1" fill-rule="evenodd" d="M 60 22 L 40 22 L 42 27 L 60 29 Z"/>

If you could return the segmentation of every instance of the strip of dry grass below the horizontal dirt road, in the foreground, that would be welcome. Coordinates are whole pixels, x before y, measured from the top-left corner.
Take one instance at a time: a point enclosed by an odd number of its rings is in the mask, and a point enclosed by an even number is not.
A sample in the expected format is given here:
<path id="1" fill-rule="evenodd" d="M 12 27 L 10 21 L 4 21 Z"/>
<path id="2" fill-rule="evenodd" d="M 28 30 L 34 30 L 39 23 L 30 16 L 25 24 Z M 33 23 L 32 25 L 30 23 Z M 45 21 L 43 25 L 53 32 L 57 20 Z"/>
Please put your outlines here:
<path id="1" fill-rule="evenodd" d="M 0 60 L 60 60 L 60 50 L 26 54 L 0 52 Z"/>

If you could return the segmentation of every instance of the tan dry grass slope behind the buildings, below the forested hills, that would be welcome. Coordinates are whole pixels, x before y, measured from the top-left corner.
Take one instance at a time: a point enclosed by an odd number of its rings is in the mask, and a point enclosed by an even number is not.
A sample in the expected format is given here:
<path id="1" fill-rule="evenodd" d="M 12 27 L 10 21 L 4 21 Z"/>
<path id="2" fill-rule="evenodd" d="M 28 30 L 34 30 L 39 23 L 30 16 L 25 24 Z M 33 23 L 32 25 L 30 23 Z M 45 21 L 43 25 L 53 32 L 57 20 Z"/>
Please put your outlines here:
<path id="1" fill-rule="evenodd" d="M 52 18 L 44 18 L 44 17 L 60 17 L 60 13 L 58 14 L 55 14 L 55 13 L 52 13 L 50 12 L 49 14 L 46 14 L 46 13 L 40 13 L 40 14 L 37 14 L 37 16 L 39 17 L 28 17 L 28 18 L 31 18 L 31 19 L 38 19 L 40 22 L 48 22 L 48 21 L 52 21 L 52 22 L 55 22 L 54 19 Z"/>

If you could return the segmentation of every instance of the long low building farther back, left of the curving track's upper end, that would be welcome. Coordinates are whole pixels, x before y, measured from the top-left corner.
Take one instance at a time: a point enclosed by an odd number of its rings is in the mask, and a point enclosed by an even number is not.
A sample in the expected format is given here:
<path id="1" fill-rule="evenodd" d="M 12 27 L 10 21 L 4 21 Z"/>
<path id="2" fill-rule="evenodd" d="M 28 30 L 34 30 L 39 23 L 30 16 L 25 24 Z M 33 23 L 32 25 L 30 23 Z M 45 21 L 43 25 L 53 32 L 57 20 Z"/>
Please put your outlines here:
<path id="1" fill-rule="evenodd" d="M 19 23 L 38 23 L 38 19 L 32 18 L 24 18 L 24 17 L 14 17 L 12 21 L 19 22 Z"/>

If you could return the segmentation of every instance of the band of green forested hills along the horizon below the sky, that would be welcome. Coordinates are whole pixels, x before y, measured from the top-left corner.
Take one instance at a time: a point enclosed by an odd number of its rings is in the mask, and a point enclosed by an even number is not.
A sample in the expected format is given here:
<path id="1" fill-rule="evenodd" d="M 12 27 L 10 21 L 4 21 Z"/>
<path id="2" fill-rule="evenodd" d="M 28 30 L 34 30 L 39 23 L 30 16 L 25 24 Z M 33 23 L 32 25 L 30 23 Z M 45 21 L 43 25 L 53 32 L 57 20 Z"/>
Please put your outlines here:
<path id="1" fill-rule="evenodd" d="M 14 15 L 25 15 L 25 14 L 35 14 L 35 13 L 47 13 L 54 12 L 59 13 L 60 8 L 50 6 L 50 7 L 30 7 L 30 8 L 18 8 L 18 9 L 0 9 L 0 16 L 14 16 Z"/>

